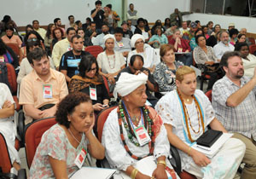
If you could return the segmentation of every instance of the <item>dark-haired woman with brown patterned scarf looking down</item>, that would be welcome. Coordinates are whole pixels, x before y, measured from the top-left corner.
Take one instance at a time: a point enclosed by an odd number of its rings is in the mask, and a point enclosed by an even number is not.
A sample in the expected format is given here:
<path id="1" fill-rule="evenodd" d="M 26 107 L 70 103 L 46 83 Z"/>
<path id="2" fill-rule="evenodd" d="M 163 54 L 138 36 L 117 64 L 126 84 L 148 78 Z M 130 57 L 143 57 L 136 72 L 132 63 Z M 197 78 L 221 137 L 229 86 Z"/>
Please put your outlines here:
<path id="1" fill-rule="evenodd" d="M 74 75 L 68 84 L 70 93 L 80 91 L 90 95 L 92 107 L 96 113 L 108 107 L 108 91 L 99 74 L 99 67 L 93 55 L 83 55 L 79 63 L 79 74 Z M 95 93 L 94 93 L 95 91 Z"/>

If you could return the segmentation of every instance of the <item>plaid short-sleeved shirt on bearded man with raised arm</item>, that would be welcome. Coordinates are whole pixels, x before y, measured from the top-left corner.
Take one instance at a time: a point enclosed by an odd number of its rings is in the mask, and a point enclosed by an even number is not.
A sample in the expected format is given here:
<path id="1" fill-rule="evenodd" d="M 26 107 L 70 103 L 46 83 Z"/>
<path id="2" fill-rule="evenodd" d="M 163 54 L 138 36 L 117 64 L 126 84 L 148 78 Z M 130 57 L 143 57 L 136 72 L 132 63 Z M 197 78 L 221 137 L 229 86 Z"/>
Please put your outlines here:
<path id="1" fill-rule="evenodd" d="M 241 87 L 247 84 L 250 78 L 241 78 Z M 256 141 L 256 88 L 237 106 L 228 107 L 226 101 L 230 95 L 241 89 L 230 78 L 224 76 L 212 88 L 212 107 L 216 117 L 230 132 L 238 132 Z"/>

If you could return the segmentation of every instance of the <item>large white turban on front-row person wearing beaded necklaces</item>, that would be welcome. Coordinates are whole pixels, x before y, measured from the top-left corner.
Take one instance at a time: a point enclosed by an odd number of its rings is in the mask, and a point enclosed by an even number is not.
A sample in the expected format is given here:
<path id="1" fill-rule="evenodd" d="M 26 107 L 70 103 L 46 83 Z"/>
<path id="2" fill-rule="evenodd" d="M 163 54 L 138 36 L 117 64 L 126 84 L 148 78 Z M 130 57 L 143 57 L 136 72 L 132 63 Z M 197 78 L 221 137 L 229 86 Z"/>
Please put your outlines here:
<path id="1" fill-rule="evenodd" d="M 143 72 L 135 75 L 128 72 L 122 72 L 119 80 L 115 84 L 113 96 L 117 98 L 118 94 L 122 97 L 129 95 L 132 91 L 136 90 L 140 85 L 146 84 L 148 76 Z"/>

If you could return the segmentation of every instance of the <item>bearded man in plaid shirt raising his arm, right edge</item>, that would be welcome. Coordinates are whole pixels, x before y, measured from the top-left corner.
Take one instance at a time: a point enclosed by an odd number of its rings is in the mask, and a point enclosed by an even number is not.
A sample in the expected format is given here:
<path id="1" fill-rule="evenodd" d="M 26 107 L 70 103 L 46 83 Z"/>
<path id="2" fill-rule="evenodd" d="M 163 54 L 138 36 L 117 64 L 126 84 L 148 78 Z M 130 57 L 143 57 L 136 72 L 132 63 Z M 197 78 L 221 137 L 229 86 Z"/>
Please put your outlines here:
<path id="1" fill-rule="evenodd" d="M 212 89 L 212 107 L 224 128 L 246 144 L 241 178 L 256 178 L 256 68 L 253 78 L 244 76 L 238 52 L 226 52 L 221 61 L 226 75 Z"/>

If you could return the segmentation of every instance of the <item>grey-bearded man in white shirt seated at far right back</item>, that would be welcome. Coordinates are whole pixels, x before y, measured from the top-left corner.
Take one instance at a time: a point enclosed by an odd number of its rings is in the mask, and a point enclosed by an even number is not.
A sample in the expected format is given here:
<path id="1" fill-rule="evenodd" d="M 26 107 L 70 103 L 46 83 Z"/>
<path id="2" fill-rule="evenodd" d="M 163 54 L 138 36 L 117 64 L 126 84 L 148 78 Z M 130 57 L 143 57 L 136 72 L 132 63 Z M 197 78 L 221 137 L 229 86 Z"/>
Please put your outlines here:
<path id="1" fill-rule="evenodd" d="M 224 55 L 226 51 L 234 51 L 235 49 L 235 47 L 229 42 L 229 32 L 220 32 L 219 38 L 220 42 L 213 47 L 213 51 L 217 59 L 221 59 L 222 55 Z"/>

